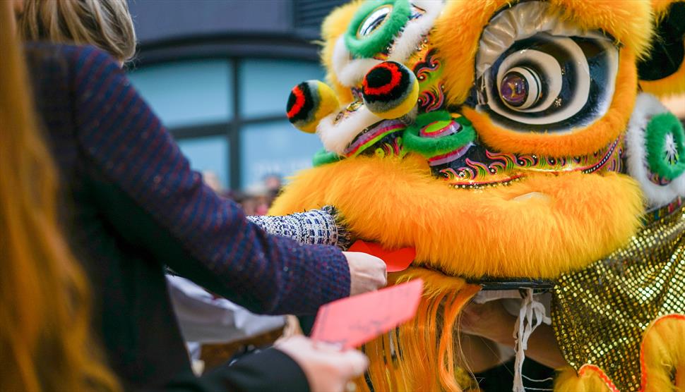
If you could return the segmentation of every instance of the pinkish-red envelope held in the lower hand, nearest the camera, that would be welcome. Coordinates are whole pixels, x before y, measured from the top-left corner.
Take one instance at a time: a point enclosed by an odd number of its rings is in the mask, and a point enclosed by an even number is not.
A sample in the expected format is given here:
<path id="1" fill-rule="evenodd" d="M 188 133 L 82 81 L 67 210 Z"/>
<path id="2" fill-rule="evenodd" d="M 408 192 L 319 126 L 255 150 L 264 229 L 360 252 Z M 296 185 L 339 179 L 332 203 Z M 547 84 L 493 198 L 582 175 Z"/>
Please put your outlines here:
<path id="1" fill-rule="evenodd" d="M 319 308 L 311 338 L 359 347 L 414 317 L 422 292 L 423 281 L 415 279 L 330 302 Z"/>

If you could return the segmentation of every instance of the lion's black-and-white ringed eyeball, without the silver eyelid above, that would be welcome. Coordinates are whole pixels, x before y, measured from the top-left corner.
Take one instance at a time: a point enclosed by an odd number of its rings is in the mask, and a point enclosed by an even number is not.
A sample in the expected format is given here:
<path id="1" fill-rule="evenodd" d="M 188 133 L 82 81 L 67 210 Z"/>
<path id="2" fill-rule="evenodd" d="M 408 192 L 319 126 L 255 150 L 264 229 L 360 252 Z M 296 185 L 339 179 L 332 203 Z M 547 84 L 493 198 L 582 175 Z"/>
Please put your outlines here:
<path id="1" fill-rule="evenodd" d="M 480 109 L 507 128 L 567 130 L 602 116 L 618 49 L 603 37 L 539 33 L 516 41 L 479 80 Z"/>

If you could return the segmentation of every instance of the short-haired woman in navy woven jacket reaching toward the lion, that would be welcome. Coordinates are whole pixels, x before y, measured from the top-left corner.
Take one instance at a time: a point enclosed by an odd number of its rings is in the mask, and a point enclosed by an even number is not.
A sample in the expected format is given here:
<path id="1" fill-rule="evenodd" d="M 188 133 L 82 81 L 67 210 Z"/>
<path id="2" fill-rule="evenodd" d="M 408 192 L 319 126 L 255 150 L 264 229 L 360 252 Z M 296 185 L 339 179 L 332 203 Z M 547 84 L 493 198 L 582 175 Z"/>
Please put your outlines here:
<path id="1" fill-rule="evenodd" d="M 131 87 L 121 71 L 127 56 L 108 46 L 112 39 L 88 41 L 116 30 L 104 25 L 124 14 L 102 10 L 126 11 L 126 2 L 59 4 L 25 1 L 25 37 L 95 43 L 117 60 L 93 47 L 24 45 L 48 145 L 73 203 L 65 214 L 68 239 L 97 288 L 93 326 L 121 383 L 140 390 L 342 391 L 363 372 L 363 355 L 302 337 L 193 376 L 169 305 L 165 265 L 250 310 L 282 314 L 313 312 L 383 286 L 384 264 L 268 235 L 215 195 Z M 88 11 L 91 6 L 100 11 Z M 27 21 L 40 23 L 38 35 Z M 74 38 L 86 30 L 94 35 Z"/>

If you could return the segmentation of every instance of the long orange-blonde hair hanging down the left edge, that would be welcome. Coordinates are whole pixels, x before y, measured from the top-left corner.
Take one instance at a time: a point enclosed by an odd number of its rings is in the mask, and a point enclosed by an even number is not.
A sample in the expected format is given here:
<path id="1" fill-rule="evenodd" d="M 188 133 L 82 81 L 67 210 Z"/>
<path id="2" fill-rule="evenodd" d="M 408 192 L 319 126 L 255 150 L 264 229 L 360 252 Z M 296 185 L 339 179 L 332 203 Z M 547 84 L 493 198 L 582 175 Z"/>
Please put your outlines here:
<path id="1" fill-rule="evenodd" d="M 0 391 L 119 391 L 90 333 L 90 291 L 58 225 L 9 2 L 0 4 Z"/>

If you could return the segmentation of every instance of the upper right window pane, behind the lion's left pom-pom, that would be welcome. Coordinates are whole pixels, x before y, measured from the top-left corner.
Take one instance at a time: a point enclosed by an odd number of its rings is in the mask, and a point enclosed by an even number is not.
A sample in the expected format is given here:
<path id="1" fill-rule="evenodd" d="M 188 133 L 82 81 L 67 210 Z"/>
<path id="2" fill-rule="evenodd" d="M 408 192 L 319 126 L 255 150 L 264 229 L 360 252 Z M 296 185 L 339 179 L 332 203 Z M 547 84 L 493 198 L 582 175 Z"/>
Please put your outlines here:
<path id="1" fill-rule="evenodd" d="M 285 116 L 292 87 L 310 79 L 323 80 L 323 68 L 314 62 L 249 59 L 240 61 L 240 115 Z"/>

